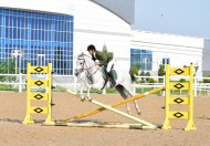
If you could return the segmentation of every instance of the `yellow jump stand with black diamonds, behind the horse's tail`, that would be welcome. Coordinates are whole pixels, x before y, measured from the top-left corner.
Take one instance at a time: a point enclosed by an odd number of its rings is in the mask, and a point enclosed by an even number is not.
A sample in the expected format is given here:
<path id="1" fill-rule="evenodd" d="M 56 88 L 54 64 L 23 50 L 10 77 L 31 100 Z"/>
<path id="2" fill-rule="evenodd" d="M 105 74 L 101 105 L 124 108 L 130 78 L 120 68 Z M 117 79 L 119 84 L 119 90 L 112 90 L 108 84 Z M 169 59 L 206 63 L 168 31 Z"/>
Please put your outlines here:
<path id="1" fill-rule="evenodd" d="M 187 82 L 177 82 L 171 81 L 170 76 L 176 75 L 188 75 L 189 81 Z M 170 94 L 170 90 L 186 90 L 188 91 L 188 96 L 178 96 L 175 97 Z M 193 65 L 190 64 L 188 67 L 170 67 L 169 64 L 166 64 L 166 116 L 164 122 L 164 129 L 171 128 L 169 119 L 188 119 L 188 124 L 185 131 L 196 129 L 193 124 Z M 188 111 L 170 111 L 170 105 L 188 105 Z"/>

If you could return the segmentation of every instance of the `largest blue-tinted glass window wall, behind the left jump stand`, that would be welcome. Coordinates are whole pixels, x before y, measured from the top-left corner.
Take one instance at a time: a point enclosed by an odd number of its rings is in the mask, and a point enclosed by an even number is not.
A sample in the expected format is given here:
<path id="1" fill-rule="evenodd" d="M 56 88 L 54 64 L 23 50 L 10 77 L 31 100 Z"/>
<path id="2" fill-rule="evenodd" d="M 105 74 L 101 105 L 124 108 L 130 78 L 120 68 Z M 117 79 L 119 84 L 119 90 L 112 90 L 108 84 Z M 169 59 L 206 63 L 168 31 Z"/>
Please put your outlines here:
<path id="1" fill-rule="evenodd" d="M 42 65 L 52 62 L 55 73 L 72 73 L 73 17 L 0 8 L 0 60 L 21 50 L 23 73 L 27 62 L 38 65 L 38 55 L 42 55 Z"/>

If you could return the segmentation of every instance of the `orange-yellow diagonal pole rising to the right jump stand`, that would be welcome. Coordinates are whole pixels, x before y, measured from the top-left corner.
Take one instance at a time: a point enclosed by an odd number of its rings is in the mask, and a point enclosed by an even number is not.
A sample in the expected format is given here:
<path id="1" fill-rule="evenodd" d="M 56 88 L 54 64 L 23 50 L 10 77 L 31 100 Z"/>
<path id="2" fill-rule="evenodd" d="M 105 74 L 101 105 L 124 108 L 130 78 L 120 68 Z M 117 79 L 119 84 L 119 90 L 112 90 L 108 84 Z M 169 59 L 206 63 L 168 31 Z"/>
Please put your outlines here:
<path id="1" fill-rule="evenodd" d="M 140 95 L 135 95 L 135 96 L 128 97 L 128 98 L 126 98 L 126 100 L 122 100 L 122 101 L 119 101 L 119 102 L 113 103 L 111 106 L 112 106 L 112 107 L 116 107 L 116 106 L 126 104 L 126 103 L 128 103 L 128 102 L 132 102 L 132 101 L 134 101 L 134 100 L 138 100 L 138 98 L 145 97 L 145 96 L 147 96 L 147 95 L 149 95 L 149 94 L 154 94 L 154 93 L 156 93 L 156 92 L 164 91 L 164 90 L 165 90 L 165 87 L 154 88 L 154 90 L 151 90 L 151 91 L 149 91 L 149 92 L 145 92 L 145 93 L 140 94 Z M 67 91 L 67 92 L 70 92 L 70 91 Z M 72 93 L 72 92 L 71 92 L 71 93 Z M 106 108 L 104 108 L 104 107 L 99 107 L 99 108 L 97 108 L 97 109 L 93 109 L 93 111 L 85 112 L 85 113 L 83 113 L 83 114 L 76 115 L 76 116 L 74 116 L 74 117 L 72 117 L 72 118 L 64 119 L 64 121 L 62 121 L 62 122 L 70 123 L 70 122 L 73 122 L 73 121 L 77 121 L 77 119 L 87 117 L 87 116 L 90 116 L 90 115 L 94 115 L 94 114 L 101 113 L 101 112 L 103 112 L 103 111 L 105 111 L 105 109 L 106 109 Z"/>

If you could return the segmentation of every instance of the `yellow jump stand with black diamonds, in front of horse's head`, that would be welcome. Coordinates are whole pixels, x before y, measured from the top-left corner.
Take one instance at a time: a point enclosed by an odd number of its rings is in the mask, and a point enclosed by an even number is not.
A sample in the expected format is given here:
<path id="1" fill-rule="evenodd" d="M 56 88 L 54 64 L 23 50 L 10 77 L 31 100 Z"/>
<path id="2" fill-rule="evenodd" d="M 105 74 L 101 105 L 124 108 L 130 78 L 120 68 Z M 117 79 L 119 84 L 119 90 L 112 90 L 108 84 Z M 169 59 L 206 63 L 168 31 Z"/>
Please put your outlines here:
<path id="1" fill-rule="evenodd" d="M 48 80 L 32 80 L 32 75 L 46 75 Z M 32 87 L 45 87 L 45 93 L 32 92 Z M 46 114 L 45 124 L 54 123 L 52 119 L 52 64 L 49 66 L 31 66 L 27 64 L 27 116 L 22 124 L 34 124 L 31 114 Z M 31 102 L 43 101 L 48 106 L 32 106 Z"/>

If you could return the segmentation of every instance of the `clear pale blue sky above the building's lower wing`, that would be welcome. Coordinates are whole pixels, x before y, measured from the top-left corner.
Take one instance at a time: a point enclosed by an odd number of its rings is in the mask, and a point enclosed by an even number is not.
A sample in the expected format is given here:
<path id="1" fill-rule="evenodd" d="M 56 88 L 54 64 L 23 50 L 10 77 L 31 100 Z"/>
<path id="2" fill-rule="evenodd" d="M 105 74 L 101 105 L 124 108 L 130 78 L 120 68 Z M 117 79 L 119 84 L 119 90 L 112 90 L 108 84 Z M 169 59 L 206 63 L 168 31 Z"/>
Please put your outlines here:
<path id="1" fill-rule="evenodd" d="M 134 28 L 210 39 L 210 0 L 136 0 Z"/>

